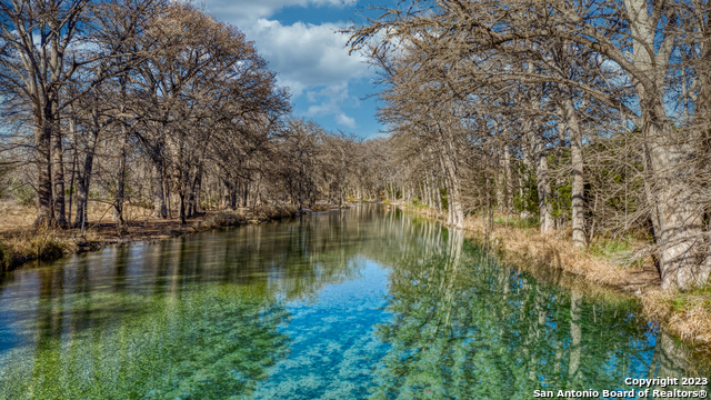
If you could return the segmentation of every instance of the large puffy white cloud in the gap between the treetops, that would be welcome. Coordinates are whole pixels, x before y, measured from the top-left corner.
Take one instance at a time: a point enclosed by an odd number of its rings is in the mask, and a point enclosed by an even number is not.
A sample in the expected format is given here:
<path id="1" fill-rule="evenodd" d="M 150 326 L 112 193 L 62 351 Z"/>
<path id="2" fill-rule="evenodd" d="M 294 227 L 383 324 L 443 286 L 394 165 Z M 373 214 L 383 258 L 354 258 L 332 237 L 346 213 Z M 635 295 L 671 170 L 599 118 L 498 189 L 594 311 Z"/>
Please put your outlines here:
<path id="1" fill-rule="evenodd" d="M 347 37 L 338 33 L 347 23 L 282 24 L 268 18 L 284 7 L 346 7 L 354 0 L 209 0 L 208 10 L 216 18 L 239 27 L 253 40 L 269 69 L 279 76 L 279 84 L 289 87 L 293 98 L 306 94 L 309 106 L 302 116 L 333 116 L 337 124 L 356 128 L 356 120 L 342 107 L 359 107 L 349 96 L 349 81 L 371 76 L 364 59 L 348 54 Z"/>

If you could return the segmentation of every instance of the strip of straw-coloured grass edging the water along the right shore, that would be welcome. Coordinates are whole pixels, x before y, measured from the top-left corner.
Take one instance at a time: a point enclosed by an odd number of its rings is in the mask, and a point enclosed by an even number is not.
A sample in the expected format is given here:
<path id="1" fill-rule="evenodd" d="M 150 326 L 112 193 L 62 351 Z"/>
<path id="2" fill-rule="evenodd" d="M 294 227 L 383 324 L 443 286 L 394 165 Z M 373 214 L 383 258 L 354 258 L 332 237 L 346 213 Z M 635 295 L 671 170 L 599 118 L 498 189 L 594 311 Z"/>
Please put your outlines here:
<path id="1" fill-rule="evenodd" d="M 390 206 L 447 224 L 445 214 L 435 210 L 395 203 Z M 483 242 L 481 220 L 468 218 L 465 222 L 465 238 Z M 563 287 L 592 283 L 600 290 L 612 290 L 639 300 L 645 318 L 659 323 L 660 328 L 683 343 L 692 346 L 694 352 L 711 357 L 711 293 L 708 291 L 662 291 L 659 288 L 659 274 L 649 262 L 622 267 L 593 254 L 590 249 L 572 249 L 567 237 L 544 236 L 538 229 L 494 224 L 494 233 L 489 242 L 505 263 L 549 278 L 555 271 L 568 274 L 564 282 L 561 281 L 561 273 L 551 278 Z"/>

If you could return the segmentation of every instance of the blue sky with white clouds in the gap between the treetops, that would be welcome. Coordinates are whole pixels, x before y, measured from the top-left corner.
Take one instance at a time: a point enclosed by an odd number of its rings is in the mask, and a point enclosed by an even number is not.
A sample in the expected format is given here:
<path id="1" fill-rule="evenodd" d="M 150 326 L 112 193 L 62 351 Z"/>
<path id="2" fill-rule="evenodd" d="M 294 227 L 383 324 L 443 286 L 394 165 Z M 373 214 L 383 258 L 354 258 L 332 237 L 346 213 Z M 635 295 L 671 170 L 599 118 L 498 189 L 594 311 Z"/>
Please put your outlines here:
<path id="1" fill-rule="evenodd" d="M 358 7 L 394 0 L 207 0 L 216 18 L 240 28 L 253 40 L 279 83 L 292 92 L 293 113 L 328 130 L 362 138 L 377 136 L 374 71 L 360 54 L 349 57 L 347 38 L 334 31 L 349 26 Z"/>

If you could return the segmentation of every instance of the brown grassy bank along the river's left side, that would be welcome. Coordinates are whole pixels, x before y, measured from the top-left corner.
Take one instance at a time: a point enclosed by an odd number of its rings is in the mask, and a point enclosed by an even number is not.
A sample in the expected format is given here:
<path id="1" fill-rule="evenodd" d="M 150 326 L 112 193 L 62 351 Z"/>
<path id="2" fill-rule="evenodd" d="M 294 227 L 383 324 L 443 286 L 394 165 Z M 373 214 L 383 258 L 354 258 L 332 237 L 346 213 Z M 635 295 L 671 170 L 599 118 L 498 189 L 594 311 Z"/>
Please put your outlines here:
<path id="1" fill-rule="evenodd" d="M 12 208 L 11 208 L 12 207 Z M 321 206 L 324 208 L 326 206 Z M 82 236 L 81 229 L 53 229 L 31 227 L 32 212 L 4 204 L 11 209 L 14 218 L 11 223 L 0 222 L 0 272 L 16 268 L 23 262 L 41 259 L 57 259 L 63 254 L 100 249 L 107 244 L 128 243 L 138 240 L 156 240 L 179 237 L 188 233 L 208 231 L 218 228 L 260 223 L 297 214 L 292 206 L 241 208 L 234 211 L 208 211 L 182 224 L 179 219 L 156 219 L 144 214 L 129 219 L 124 229 L 119 231 L 117 223 L 106 212 L 89 212 L 89 223 Z M 93 212 L 92 212 L 93 211 Z M 17 223 L 17 221 L 23 221 Z"/>

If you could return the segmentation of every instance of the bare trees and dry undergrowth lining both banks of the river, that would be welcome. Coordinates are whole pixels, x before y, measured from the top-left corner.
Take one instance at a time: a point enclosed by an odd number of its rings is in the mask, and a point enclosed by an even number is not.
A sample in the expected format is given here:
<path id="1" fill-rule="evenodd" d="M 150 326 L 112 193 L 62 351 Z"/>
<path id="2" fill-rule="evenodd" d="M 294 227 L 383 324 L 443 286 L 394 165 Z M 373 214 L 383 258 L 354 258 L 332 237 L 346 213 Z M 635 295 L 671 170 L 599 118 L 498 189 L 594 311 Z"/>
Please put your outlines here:
<path id="1" fill-rule="evenodd" d="M 593 281 L 651 270 L 634 290 L 708 341 L 709 6 L 398 7 L 342 32 L 379 72 L 389 136 L 361 140 L 294 118 L 253 42 L 191 4 L 0 1 L 0 197 L 33 213 L 6 229 L 3 264 L 140 232 L 149 212 L 170 233 L 397 199 L 534 258 L 554 246 L 553 264 Z"/>

